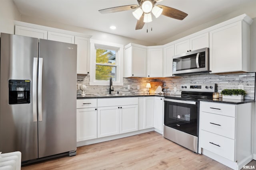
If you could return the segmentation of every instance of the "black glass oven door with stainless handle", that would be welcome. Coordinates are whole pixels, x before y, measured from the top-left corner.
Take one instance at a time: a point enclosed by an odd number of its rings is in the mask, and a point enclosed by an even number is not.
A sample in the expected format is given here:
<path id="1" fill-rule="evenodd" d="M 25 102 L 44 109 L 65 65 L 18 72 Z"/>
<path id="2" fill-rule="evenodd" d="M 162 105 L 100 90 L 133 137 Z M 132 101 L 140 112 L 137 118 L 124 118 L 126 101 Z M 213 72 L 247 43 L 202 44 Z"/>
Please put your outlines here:
<path id="1" fill-rule="evenodd" d="M 198 102 L 164 99 L 164 125 L 198 136 Z"/>

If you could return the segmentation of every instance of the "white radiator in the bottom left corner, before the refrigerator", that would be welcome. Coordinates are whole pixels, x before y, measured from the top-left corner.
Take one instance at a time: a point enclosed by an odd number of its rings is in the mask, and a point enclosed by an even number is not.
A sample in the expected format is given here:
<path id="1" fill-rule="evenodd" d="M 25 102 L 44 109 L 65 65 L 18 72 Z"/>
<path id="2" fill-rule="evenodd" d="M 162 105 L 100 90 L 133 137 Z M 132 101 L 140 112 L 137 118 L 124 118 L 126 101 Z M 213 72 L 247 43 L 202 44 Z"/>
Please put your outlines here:
<path id="1" fill-rule="evenodd" d="M 0 170 L 20 170 L 21 152 L 0 152 Z"/>

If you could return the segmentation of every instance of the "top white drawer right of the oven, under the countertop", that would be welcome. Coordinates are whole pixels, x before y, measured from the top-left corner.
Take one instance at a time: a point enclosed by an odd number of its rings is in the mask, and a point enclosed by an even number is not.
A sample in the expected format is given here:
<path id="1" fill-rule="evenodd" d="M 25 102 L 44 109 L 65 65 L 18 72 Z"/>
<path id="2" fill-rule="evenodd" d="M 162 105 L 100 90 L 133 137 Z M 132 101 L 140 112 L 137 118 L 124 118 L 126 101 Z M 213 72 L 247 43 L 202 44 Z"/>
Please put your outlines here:
<path id="1" fill-rule="evenodd" d="M 232 104 L 220 104 L 215 102 L 200 102 L 200 111 L 226 116 L 236 116 L 236 106 Z"/>

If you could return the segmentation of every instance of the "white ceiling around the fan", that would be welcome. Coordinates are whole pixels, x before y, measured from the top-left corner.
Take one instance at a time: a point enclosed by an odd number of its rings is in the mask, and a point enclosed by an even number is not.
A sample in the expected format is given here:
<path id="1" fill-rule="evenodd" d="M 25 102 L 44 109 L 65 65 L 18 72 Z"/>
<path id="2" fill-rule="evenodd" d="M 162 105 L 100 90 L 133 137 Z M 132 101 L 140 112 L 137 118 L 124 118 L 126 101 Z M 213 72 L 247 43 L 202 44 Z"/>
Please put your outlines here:
<path id="1" fill-rule="evenodd" d="M 138 4 L 137 0 L 13 0 L 20 14 L 48 21 L 85 27 L 140 39 L 160 42 L 196 25 L 219 18 L 238 10 L 255 0 L 163 0 L 157 4 L 176 8 L 188 16 L 180 21 L 161 15 L 152 17 L 143 29 L 135 30 L 134 10 L 100 14 L 98 10 L 116 6 Z M 116 30 L 109 27 L 115 25 Z M 148 27 L 148 33 L 146 29 Z M 152 27 L 152 31 L 151 31 Z"/>

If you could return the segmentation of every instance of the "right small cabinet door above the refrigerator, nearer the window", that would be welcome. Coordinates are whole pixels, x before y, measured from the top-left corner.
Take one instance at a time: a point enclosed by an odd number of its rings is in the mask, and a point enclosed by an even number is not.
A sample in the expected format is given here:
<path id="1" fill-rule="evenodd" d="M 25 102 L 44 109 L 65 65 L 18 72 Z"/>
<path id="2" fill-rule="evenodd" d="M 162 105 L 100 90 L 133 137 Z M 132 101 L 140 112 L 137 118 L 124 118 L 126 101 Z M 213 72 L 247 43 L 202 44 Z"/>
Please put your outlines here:
<path id="1" fill-rule="evenodd" d="M 48 39 L 52 40 L 52 41 L 60 41 L 63 43 L 71 43 L 71 44 L 74 44 L 74 42 L 75 42 L 74 35 L 56 33 L 56 32 L 51 32 L 51 31 L 48 31 Z"/>

